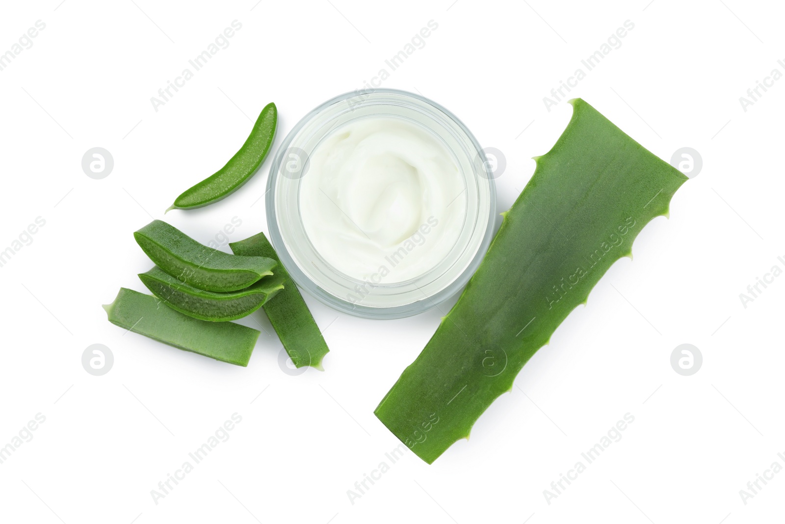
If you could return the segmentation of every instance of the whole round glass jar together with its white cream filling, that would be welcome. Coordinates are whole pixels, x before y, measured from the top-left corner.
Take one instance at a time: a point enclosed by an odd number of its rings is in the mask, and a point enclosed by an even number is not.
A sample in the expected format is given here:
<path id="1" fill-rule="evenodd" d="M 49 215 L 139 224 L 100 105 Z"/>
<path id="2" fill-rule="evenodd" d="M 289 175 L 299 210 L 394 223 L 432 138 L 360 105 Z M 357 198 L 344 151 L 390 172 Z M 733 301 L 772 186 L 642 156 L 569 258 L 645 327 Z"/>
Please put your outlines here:
<path id="1" fill-rule="evenodd" d="M 270 240 L 336 310 L 407 317 L 469 281 L 491 242 L 495 186 L 455 115 L 399 90 L 325 102 L 294 126 L 267 188 Z"/>

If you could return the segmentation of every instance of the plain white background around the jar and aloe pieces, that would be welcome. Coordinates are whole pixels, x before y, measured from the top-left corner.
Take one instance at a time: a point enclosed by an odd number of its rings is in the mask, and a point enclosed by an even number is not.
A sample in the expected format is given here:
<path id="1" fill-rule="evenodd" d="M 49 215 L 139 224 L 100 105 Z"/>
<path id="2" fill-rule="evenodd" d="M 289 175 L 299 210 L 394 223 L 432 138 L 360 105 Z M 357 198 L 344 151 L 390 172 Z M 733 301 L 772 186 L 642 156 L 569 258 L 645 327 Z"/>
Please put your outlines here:
<path id="1" fill-rule="evenodd" d="M 46 416 L 0 464 L 3 522 L 779 522 L 785 473 L 743 504 L 739 489 L 785 460 L 785 277 L 743 307 L 739 293 L 785 255 L 785 80 L 743 111 L 739 97 L 785 72 L 776 2 L 6 2 L 0 52 L 46 29 L 0 71 L 0 250 L 46 225 L 5 266 L 0 445 Z M 243 27 L 155 112 L 150 97 L 238 20 Z M 623 258 L 525 366 L 470 442 L 433 465 L 373 415 L 436 329 L 438 310 L 398 321 L 335 313 L 307 297 L 331 352 L 290 376 L 264 315 L 247 368 L 123 334 L 101 304 L 144 291 L 132 233 L 225 163 L 269 101 L 279 137 L 316 105 L 363 87 L 429 20 L 438 29 L 384 87 L 422 93 L 506 156 L 504 211 L 571 108 L 542 97 L 625 20 L 635 27 L 570 93 L 663 159 L 696 148 L 703 170 L 670 220 Z M 389 69 L 389 68 L 388 68 Z M 93 180 L 82 155 L 107 148 Z M 166 220 L 197 240 L 233 217 L 231 240 L 266 231 L 269 160 L 235 195 Z M 225 248 L 226 251 L 228 249 Z M 81 364 L 111 348 L 105 376 Z M 692 343 L 703 367 L 680 376 Z M 263 393 L 261 393 L 263 391 Z M 260 394 L 261 393 L 261 394 Z M 165 498 L 151 490 L 232 413 L 243 417 Z M 544 489 L 625 413 L 634 423 L 557 499 Z M 390 471 L 351 504 L 347 490 Z"/>

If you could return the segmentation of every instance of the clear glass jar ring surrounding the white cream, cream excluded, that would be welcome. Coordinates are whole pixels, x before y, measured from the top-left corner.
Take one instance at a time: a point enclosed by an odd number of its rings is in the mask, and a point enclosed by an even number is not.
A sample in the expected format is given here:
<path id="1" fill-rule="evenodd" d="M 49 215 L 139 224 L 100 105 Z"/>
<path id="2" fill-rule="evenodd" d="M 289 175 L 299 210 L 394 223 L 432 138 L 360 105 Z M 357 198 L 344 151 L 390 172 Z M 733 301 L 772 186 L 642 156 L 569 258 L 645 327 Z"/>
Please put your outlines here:
<path id="1" fill-rule="evenodd" d="M 301 218 L 301 182 L 312 152 L 333 131 L 358 119 L 406 119 L 451 153 L 465 184 L 463 223 L 447 255 L 431 269 L 400 282 L 358 279 L 330 265 L 309 240 Z M 469 281 L 491 243 L 496 216 L 493 174 L 476 138 L 451 112 L 401 90 L 361 90 L 321 104 L 294 126 L 270 167 L 266 192 L 270 240 L 301 288 L 335 310 L 367 318 L 407 317 L 455 295 Z"/>

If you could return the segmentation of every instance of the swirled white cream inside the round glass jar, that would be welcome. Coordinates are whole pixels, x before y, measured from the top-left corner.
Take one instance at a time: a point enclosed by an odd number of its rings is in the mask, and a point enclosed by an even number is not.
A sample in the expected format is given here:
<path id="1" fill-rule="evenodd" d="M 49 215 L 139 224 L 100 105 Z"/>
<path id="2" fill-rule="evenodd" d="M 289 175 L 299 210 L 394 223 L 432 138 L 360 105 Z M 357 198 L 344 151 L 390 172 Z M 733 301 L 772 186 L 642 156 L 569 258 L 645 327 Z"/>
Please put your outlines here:
<path id="1" fill-rule="evenodd" d="M 447 257 L 466 218 L 466 186 L 450 150 L 407 119 L 341 126 L 312 152 L 300 186 L 305 233 L 357 280 L 403 282 Z"/>

